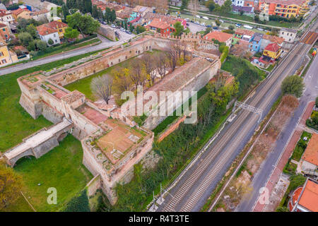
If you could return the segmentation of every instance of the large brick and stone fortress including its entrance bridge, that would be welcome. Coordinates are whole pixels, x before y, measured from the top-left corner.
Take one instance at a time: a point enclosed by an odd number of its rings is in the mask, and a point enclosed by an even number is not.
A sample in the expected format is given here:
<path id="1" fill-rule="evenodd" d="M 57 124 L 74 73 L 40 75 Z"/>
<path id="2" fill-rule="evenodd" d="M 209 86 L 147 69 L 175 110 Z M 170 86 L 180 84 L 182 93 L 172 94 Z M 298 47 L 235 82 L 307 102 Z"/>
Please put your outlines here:
<path id="1" fill-rule="evenodd" d="M 127 183 L 134 176 L 134 165 L 153 160 L 151 149 L 154 129 L 165 117 L 150 114 L 143 126 L 122 114 L 119 107 L 102 109 L 78 90 L 72 92 L 65 85 L 86 78 L 110 66 L 118 64 L 152 49 L 164 50 L 176 40 L 184 42 L 191 59 L 172 73 L 155 83 L 149 90 L 199 91 L 218 73 L 218 56 L 200 49 L 217 49 L 216 45 L 201 40 L 197 35 L 179 38 L 158 35 L 140 35 L 127 44 L 100 52 L 81 64 L 53 73 L 37 71 L 18 78 L 20 105 L 34 118 L 40 115 L 52 121 L 53 126 L 32 134 L 16 147 L 4 153 L 4 159 L 12 167 L 21 157 L 40 157 L 71 133 L 83 146 L 83 165 L 95 176 L 95 190 L 102 189 L 110 203 L 117 201 L 114 187 Z M 160 105 L 163 105 L 160 102 Z M 179 105 L 182 105 L 180 103 Z M 179 107 L 175 105 L 175 109 Z M 88 191 L 90 194 L 95 191 Z"/>

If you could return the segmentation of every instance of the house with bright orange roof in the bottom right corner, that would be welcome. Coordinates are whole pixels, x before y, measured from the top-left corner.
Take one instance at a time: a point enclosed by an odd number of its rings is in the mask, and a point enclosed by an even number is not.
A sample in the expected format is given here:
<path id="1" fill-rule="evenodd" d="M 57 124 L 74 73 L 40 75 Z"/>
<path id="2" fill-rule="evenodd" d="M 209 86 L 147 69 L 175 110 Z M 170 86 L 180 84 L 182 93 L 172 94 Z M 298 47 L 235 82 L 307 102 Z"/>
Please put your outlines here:
<path id="1" fill-rule="evenodd" d="M 318 212 L 318 184 L 306 179 L 303 186 L 298 187 L 288 201 L 290 212 Z"/>

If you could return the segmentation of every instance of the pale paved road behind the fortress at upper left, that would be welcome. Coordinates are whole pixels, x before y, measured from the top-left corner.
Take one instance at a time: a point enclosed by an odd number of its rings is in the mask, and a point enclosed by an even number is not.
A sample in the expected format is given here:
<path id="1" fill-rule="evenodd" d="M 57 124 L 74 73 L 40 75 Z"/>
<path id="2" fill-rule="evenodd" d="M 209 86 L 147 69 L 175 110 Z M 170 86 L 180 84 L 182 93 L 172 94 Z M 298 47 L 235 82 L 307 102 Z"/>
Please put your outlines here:
<path id="1" fill-rule="evenodd" d="M 128 35 L 128 34 L 126 34 L 126 35 Z M 22 64 L 17 64 L 15 66 L 9 66 L 7 68 L 0 69 L 0 76 L 5 75 L 7 73 L 13 73 L 13 72 L 20 71 L 23 69 L 32 68 L 33 66 L 47 64 L 47 63 L 52 62 L 52 61 L 58 61 L 60 59 L 66 59 L 69 57 L 74 57 L 74 56 L 78 56 L 81 54 L 86 54 L 88 52 L 94 52 L 94 51 L 97 51 L 100 49 L 105 49 L 107 47 L 112 47 L 112 46 L 117 45 L 117 44 L 122 44 L 126 40 L 129 40 L 129 38 L 134 37 L 134 35 L 130 35 L 127 39 L 125 39 L 126 35 L 123 38 L 121 38 L 121 40 L 119 40 L 118 42 L 112 42 L 110 40 L 107 40 L 107 38 L 102 37 L 101 35 L 98 35 L 98 38 L 102 41 L 100 44 L 97 44 L 94 46 L 84 47 L 82 49 L 74 49 L 74 50 L 71 50 L 69 52 L 65 52 L 64 54 L 61 53 L 58 55 L 54 55 L 52 57 L 45 57 L 42 59 L 37 59 L 35 61 L 28 61 L 27 63 L 24 63 L 24 64 L 22 63 Z"/>

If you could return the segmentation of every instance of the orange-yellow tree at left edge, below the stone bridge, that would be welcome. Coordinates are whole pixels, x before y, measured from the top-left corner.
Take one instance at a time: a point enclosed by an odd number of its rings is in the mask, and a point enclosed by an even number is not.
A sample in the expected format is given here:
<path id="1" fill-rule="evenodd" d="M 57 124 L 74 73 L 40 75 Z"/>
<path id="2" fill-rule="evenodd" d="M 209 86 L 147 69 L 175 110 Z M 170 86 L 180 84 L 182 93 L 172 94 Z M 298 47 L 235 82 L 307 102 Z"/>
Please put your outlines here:
<path id="1" fill-rule="evenodd" d="M 6 167 L 0 162 L 0 210 L 20 198 L 20 191 L 23 187 L 22 177 L 11 167 Z"/>

